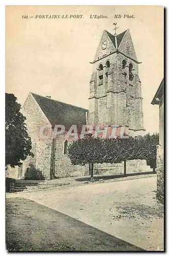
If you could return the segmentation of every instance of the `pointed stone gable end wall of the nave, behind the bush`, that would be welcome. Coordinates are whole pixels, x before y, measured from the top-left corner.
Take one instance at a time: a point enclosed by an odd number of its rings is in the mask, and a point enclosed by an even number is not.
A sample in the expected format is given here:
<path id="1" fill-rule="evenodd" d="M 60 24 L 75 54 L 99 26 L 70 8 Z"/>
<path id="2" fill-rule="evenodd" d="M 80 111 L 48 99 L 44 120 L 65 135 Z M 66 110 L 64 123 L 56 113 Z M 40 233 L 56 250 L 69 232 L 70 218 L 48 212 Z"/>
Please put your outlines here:
<path id="1" fill-rule="evenodd" d="M 27 118 L 26 124 L 34 154 L 34 157 L 29 156 L 23 161 L 23 177 L 29 164 L 32 163 L 41 170 L 45 179 L 50 179 L 52 139 L 47 139 L 47 136 L 50 135 L 51 129 L 44 129 L 43 133 L 40 131 L 44 125 L 50 126 L 51 124 L 31 93 L 23 104 L 21 112 Z M 44 139 L 41 135 L 46 136 L 46 138 Z"/>

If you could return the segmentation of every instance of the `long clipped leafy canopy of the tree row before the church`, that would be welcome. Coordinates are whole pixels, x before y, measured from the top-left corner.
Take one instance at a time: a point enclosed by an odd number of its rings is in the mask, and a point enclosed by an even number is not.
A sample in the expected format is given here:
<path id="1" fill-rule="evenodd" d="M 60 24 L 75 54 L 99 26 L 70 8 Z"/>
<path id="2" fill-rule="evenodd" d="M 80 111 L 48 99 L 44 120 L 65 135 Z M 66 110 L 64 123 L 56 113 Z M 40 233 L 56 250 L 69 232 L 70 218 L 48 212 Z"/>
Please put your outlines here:
<path id="1" fill-rule="evenodd" d="M 85 165 L 94 163 L 121 163 L 128 160 L 156 161 L 159 134 L 146 134 L 128 138 L 106 138 L 86 136 L 68 146 L 71 163 Z M 91 173 L 92 175 L 92 173 Z"/>

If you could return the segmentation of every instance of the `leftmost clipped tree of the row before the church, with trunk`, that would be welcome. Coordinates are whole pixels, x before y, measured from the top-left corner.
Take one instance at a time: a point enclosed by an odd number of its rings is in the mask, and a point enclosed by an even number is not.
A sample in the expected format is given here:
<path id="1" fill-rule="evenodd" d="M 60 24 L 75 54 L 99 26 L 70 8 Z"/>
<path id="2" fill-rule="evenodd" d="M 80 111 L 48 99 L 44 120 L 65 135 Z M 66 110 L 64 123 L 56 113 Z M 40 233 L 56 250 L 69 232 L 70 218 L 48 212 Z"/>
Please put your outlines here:
<path id="1" fill-rule="evenodd" d="M 91 179 L 93 178 L 93 164 L 103 163 L 103 143 L 102 139 L 93 136 L 86 136 L 83 139 L 73 141 L 68 146 L 68 157 L 73 165 L 85 165 L 89 166 L 89 174 Z"/>

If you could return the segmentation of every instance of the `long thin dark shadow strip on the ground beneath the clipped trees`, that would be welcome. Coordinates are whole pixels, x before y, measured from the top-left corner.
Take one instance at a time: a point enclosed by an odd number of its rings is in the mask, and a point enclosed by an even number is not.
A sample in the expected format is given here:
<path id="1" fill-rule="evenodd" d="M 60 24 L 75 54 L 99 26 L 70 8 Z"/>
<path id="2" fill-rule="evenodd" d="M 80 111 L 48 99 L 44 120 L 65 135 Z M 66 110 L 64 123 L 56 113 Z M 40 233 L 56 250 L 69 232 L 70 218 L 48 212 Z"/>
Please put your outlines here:
<path id="1" fill-rule="evenodd" d="M 146 174 L 154 174 L 153 172 L 139 172 L 139 173 L 132 173 L 132 174 L 127 174 L 126 176 L 124 174 L 114 174 L 114 175 L 106 175 L 106 176 L 94 176 L 94 180 L 110 180 L 110 179 L 116 179 L 116 178 L 123 178 L 123 177 L 130 177 L 130 176 L 137 176 L 137 175 L 146 175 Z M 76 181 L 90 181 L 90 177 L 83 177 L 83 178 L 78 178 Z"/>

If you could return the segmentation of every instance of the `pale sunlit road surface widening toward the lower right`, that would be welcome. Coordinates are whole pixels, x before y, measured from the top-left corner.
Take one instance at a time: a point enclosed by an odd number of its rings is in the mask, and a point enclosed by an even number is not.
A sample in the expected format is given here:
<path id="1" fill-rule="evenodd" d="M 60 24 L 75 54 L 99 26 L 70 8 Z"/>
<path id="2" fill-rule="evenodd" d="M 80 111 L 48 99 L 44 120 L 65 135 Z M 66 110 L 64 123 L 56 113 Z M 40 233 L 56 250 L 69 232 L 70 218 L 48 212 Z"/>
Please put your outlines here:
<path id="1" fill-rule="evenodd" d="M 10 194 L 50 207 L 145 250 L 163 250 L 156 177 Z M 86 248 L 88 249 L 88 248 Z"/>

